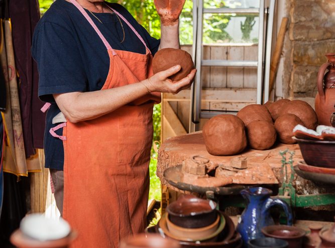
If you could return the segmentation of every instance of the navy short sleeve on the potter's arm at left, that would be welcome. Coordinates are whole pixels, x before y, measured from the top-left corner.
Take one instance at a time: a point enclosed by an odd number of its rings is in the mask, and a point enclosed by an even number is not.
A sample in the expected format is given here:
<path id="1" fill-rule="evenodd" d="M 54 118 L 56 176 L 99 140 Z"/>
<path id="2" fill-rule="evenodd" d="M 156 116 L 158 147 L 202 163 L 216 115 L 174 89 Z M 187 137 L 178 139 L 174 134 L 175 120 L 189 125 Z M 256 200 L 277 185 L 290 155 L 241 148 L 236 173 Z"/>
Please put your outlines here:
<path id="1" fill-rule="evenodd" d="M 38 95 L 55 102 L 52 94 L 84 92 L 87 77 L 76 39 L 68 27 L 43 22 L 33 36 L 32 55 L 39 71 Z"/>

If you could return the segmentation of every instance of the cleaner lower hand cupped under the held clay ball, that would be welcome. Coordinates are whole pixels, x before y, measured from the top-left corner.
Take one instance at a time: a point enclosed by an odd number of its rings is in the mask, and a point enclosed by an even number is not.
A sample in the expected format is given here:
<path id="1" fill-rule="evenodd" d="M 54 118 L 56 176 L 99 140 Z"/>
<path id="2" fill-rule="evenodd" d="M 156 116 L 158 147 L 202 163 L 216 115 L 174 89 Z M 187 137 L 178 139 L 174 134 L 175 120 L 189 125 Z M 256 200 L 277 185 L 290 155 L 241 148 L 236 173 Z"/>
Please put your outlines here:
<path id="1" fill-rule="evenodd" d="M 188 89 L 191 87 L 193 79 L 195 77 L 196 70 L 193 69 L 190 74 L 179 81 L 172 81 L 169 79 L 170 76 L 177 73 L 180 70 L 180 65 L 173 66 L 165 71 L 158 72 L 152 77 L 143 81 L 143 84 L 147 88 L 149 93 L 162 92 L 177 94 L 181 90 Z"/>

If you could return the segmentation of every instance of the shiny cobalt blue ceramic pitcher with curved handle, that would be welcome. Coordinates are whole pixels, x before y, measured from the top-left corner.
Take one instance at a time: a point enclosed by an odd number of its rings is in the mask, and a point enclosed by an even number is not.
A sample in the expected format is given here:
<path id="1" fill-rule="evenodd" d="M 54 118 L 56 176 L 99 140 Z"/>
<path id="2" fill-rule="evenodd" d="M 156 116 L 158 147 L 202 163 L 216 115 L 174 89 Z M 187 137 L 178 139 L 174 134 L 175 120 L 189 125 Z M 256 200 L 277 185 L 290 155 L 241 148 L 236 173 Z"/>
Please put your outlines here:
<path id="1" fill-rule="evenodd" d="M 274 205 L 279 205 L 284 209 L 287 225 L 292 225 L 293 219 L 290 206 L 281 199 L 270 198 L 272 194 L 270 189 L 262 187 L 248 188 L 242 190 L 241 194 L 249 201 L 237 225 L 237 231 L 241 233 L 245 244 L 249 239 L 263 237 L 262 227 L 274 224 L 270 215 L 270 208 Z"/>

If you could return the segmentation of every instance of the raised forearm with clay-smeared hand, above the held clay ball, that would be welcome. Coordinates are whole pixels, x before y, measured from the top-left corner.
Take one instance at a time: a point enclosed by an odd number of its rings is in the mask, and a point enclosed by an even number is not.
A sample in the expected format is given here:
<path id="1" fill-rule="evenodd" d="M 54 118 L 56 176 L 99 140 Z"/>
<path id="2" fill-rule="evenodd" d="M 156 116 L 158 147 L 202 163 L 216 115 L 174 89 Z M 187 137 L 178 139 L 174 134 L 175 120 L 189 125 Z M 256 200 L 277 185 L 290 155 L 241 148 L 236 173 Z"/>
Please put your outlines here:
<path id="1" fill-rule="evenodd" d="M 157 13 L 161 18 L 161 43 L 159 49 L 180 49 L 179 16 L 185 0 L 154 0 Z"/>

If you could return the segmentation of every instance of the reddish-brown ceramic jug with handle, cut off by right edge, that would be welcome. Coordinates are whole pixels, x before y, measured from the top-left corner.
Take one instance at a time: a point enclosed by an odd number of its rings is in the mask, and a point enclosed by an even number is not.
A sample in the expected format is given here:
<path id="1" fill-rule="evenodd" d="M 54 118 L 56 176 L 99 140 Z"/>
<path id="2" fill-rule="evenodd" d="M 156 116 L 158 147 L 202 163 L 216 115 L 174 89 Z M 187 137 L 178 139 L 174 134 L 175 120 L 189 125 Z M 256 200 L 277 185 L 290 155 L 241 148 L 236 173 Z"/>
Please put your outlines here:
<path id="1" fill-rule="evenodd" d="M 315 112 L 319 125 L 330 126 L 329 116 L 334 112 L 335 104 L 335 53 L 325 56 L 328 60 L 317 73 Z M 324 74 L 327 69 L 328 72 Z"/>

